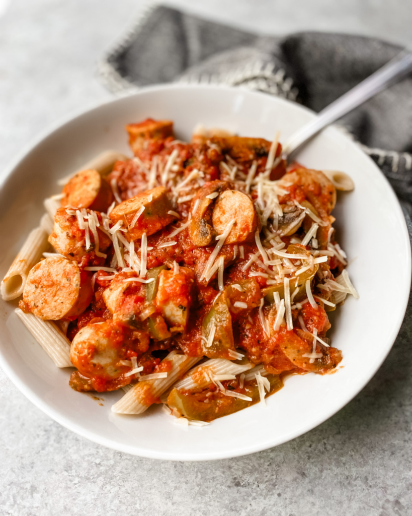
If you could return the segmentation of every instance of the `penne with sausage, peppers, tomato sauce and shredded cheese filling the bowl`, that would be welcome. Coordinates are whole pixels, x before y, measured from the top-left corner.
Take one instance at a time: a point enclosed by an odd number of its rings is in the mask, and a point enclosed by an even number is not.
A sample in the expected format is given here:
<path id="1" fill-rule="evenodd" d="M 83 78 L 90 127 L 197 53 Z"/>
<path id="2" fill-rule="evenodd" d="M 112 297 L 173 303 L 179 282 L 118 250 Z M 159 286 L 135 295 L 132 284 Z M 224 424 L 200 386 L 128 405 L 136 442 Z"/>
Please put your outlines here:
<path id="1" fill-rule="evenodd" d="M 331 215 L 349 176 L 287 165 L 278 136 L 126 128 L 133 157 L 63 179 L 1 284 L 70 386 L 203 426 L 335 370 L 328 312 L 358 297 Z"/>

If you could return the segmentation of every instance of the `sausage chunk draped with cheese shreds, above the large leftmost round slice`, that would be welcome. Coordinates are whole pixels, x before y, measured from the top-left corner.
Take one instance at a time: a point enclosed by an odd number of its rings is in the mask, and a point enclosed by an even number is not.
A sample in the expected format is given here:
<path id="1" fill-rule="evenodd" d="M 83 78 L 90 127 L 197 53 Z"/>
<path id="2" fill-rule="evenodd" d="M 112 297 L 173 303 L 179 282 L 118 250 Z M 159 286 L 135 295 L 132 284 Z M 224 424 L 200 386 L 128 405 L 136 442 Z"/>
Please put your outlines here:
<path id="1" fill-rule="evenodd" d="M 88 210 L 90 214 L 90 210 Z M 101 216 L 96 213 L 98 222 L 101 223 Z M 49 242 L 56 249 L 57 252 L 64 254 L 67 257 L 72 257 L 80 261 L 81 258 L 87 254 L 95 252 L 98 247 L 100 253 L 104 253 L 111 245 L 110 238 L 96 228 L 98 242 L 95 242 L 93 232 L 90 231 L 90 248 L 86 249 L 85 230 L 79 228 L 79 223 L 76 215 L 66 212 L 66 208 L 58 208 L 55 215 L 55 224 L 53 233 L 49 236 Z M 97 246 L 98 244 L 98 246 Z"/>

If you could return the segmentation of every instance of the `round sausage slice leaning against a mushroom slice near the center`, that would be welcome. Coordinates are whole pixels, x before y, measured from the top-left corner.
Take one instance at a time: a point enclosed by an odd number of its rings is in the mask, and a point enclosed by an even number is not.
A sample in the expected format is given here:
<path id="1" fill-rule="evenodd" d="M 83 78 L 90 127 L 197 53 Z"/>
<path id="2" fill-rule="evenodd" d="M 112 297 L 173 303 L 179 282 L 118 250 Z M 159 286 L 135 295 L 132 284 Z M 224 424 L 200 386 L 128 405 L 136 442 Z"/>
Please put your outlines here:
<path id="1" fill-rule="evenodd" d="M 225 244 L 253 241 L 259 220 L 253 202 L 245 193 L 226 190 L 216 199 L 212 216 L 213 229 L 217 234 L 221 234 L 233 219 L 235 223 Z"/>

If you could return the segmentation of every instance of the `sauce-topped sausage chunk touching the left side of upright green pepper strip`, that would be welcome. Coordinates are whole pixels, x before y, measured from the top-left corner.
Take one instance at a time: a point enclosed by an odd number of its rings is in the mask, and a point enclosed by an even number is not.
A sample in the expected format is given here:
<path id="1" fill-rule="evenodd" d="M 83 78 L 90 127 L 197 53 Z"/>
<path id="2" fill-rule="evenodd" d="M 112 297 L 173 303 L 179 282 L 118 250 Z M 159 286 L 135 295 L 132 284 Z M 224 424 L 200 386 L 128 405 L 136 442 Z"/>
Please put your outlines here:
<path id="1" fill-rule="evenodd" d="M 146 299 L 145 287 L 139 281 L 125 281 L 135 276 L 135 272 L 121 272 L 116 275 L 105 289 L 103 300 L 113 314 L 114 321 L 121 321 L 140 330 L 143 329 L 139 315 Z"/>

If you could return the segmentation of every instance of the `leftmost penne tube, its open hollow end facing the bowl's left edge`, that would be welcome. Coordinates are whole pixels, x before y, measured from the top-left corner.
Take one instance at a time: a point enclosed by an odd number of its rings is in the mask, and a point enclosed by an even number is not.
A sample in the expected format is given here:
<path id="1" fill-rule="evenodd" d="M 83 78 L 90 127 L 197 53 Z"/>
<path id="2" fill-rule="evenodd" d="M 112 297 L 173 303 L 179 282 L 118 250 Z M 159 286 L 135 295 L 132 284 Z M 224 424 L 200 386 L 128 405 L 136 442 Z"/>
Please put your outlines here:
<path id="1" fill-rule="evenodd" d="M 0 292 L 5 301 L 11 301 L 23 294 L 30 269 L 40 261 L 43 253 L 50 249 L 48 234 L 43 228 L 33 229 L 29 233 L 2 281 Z"/>

